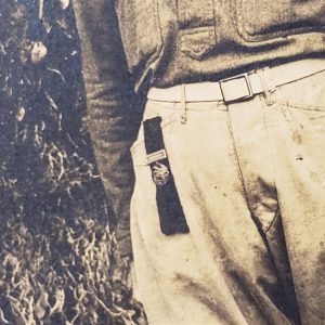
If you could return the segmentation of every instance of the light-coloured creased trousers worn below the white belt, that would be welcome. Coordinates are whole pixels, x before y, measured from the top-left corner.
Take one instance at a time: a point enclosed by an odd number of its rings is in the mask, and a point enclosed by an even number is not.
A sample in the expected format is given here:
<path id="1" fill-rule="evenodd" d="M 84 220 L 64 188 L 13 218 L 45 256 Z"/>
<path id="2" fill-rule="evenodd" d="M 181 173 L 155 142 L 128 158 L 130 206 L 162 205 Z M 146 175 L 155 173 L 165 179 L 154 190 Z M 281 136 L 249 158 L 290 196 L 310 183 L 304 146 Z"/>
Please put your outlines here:
<path id="1" fill-rule="evenodd" d="M 161 233 L 141 129 L 131 234 L 151 325 L 325 324 L 325 72 L 270 95 L 187 103 L 186 123 L 147 102 L 190 226 Z"/>

